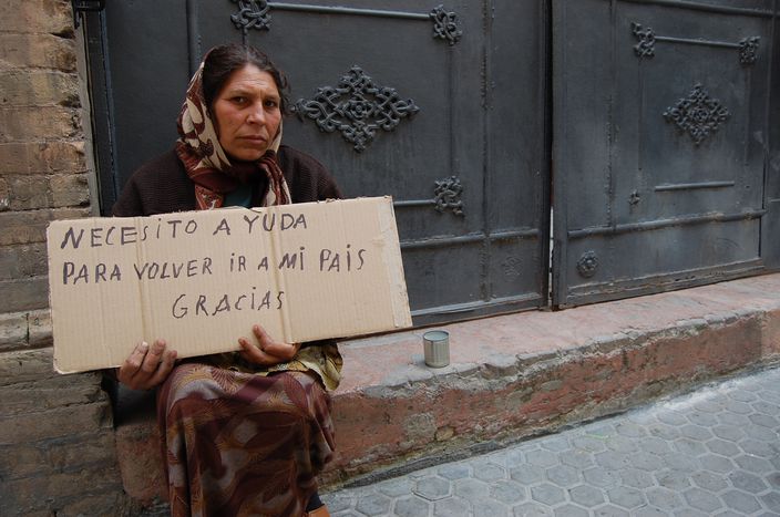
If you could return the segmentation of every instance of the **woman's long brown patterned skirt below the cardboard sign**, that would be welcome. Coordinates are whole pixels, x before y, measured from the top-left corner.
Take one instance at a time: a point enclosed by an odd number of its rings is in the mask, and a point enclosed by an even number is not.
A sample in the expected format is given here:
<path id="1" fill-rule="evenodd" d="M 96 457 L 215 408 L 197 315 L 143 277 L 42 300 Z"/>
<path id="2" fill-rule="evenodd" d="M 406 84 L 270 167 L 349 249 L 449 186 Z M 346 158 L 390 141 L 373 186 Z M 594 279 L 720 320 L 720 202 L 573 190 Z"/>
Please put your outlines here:
<path id="1" fill-rule="evenodd" d="M 301 372 L 181 364 L 157 422 L 175 517 L 301 516 L 333 451 L 330 397 Z"/>

